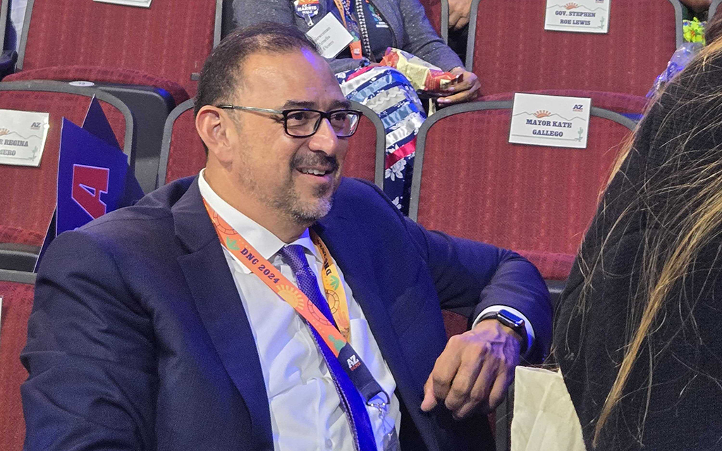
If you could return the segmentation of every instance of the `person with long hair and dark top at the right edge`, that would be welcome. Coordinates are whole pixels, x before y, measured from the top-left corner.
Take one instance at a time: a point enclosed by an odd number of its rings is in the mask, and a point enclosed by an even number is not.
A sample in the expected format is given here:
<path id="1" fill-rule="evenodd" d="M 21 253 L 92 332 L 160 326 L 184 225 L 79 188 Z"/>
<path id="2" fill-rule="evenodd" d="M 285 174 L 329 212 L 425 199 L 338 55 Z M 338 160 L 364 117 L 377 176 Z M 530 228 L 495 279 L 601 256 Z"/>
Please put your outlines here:
<path id="1" fill-rule="evenodd" d="M 554 354 L 588 450 L 722 450 L 722 42 L 671 82 L 601 198 Z"/>

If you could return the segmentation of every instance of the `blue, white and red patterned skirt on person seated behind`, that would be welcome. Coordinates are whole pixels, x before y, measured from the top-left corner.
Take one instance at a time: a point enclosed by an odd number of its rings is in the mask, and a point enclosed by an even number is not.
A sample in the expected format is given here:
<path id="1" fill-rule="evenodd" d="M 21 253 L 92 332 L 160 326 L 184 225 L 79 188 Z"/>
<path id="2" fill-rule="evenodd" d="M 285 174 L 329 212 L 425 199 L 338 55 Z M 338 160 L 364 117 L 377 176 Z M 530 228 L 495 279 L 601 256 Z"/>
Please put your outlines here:
<path id="1" fill-rule="evenodd" d="M 404 214 L 409 213 L 416 136 L 426 119 L 419 96 L 401 72 L 386 66 L 367 66 L 336 74 L 349 100 L 379 115 L 386 131 L 383 191 Z"/>

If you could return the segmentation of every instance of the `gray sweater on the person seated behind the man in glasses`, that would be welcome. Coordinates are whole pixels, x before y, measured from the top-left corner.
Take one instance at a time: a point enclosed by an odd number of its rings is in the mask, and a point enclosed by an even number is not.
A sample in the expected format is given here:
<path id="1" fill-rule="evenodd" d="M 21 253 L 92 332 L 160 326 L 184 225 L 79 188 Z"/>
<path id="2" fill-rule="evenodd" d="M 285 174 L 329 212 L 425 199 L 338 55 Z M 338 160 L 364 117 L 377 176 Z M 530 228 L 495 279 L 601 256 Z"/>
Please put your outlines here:
<path id="1" fill-rule="evenodd" d="M 436 34 L 419 0 L 371 0 L 371 2 L 391 28 L 393 47 L 412 53 L 445 71 L 464 66 L 456 53 Z M 316 17 L 313 17 L 314 24 L 326 16 L 329 6 L 334 6 L 334 3 L 330 0 L 321 0 L 319 6 L 320 11 Z M 248 27 L 260 22 L 278 22 L 296 25 L 303 32 L 307 32 L 310 28 L 305 19 L 295 13 L 292 0 L 233 0 L 233 17 L 238 27 Z M 340 58 L 329 60 L 329 64 L 337 73 L 357 69 L 361 61 L 366 60 Z"/>

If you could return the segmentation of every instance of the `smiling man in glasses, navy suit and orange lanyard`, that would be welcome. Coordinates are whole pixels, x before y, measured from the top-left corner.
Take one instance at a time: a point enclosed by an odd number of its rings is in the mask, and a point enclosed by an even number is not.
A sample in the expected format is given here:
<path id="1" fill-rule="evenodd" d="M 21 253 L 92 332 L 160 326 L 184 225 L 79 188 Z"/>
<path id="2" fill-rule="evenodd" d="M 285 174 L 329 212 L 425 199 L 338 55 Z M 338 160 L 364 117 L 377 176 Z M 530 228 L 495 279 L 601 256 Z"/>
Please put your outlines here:
<path id="1" fill-rule="evenodd" d="M 549 347 L 544 281 L 342 179 L 356 119 L 293 28 L 214 49 L 201 174 L 60 235 L 43 259 L 22 354 L 27 450 L 493 449 L 484 414 L 521 356 Z M 471 330 L 447 343 L 440 309 L 455 307 L 474 309 Z M 349 369 L 324 321 L 347 323 Z"/>

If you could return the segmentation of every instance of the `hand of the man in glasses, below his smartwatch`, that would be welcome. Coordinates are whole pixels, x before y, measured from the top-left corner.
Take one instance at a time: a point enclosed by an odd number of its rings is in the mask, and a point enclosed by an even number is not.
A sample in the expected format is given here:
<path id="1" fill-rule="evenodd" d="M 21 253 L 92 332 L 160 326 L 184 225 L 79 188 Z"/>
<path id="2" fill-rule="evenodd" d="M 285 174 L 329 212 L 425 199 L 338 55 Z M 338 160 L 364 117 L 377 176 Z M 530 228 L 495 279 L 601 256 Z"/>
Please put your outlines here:
<path id="1" fill-rule="evenodd" d="M 481 408 L 489 413 L 504 399 L 519 364 L 521 336 L 495 319 L 449 338 L 424 385 L 422 411 L 443 402 L 454 418 Z"/>

